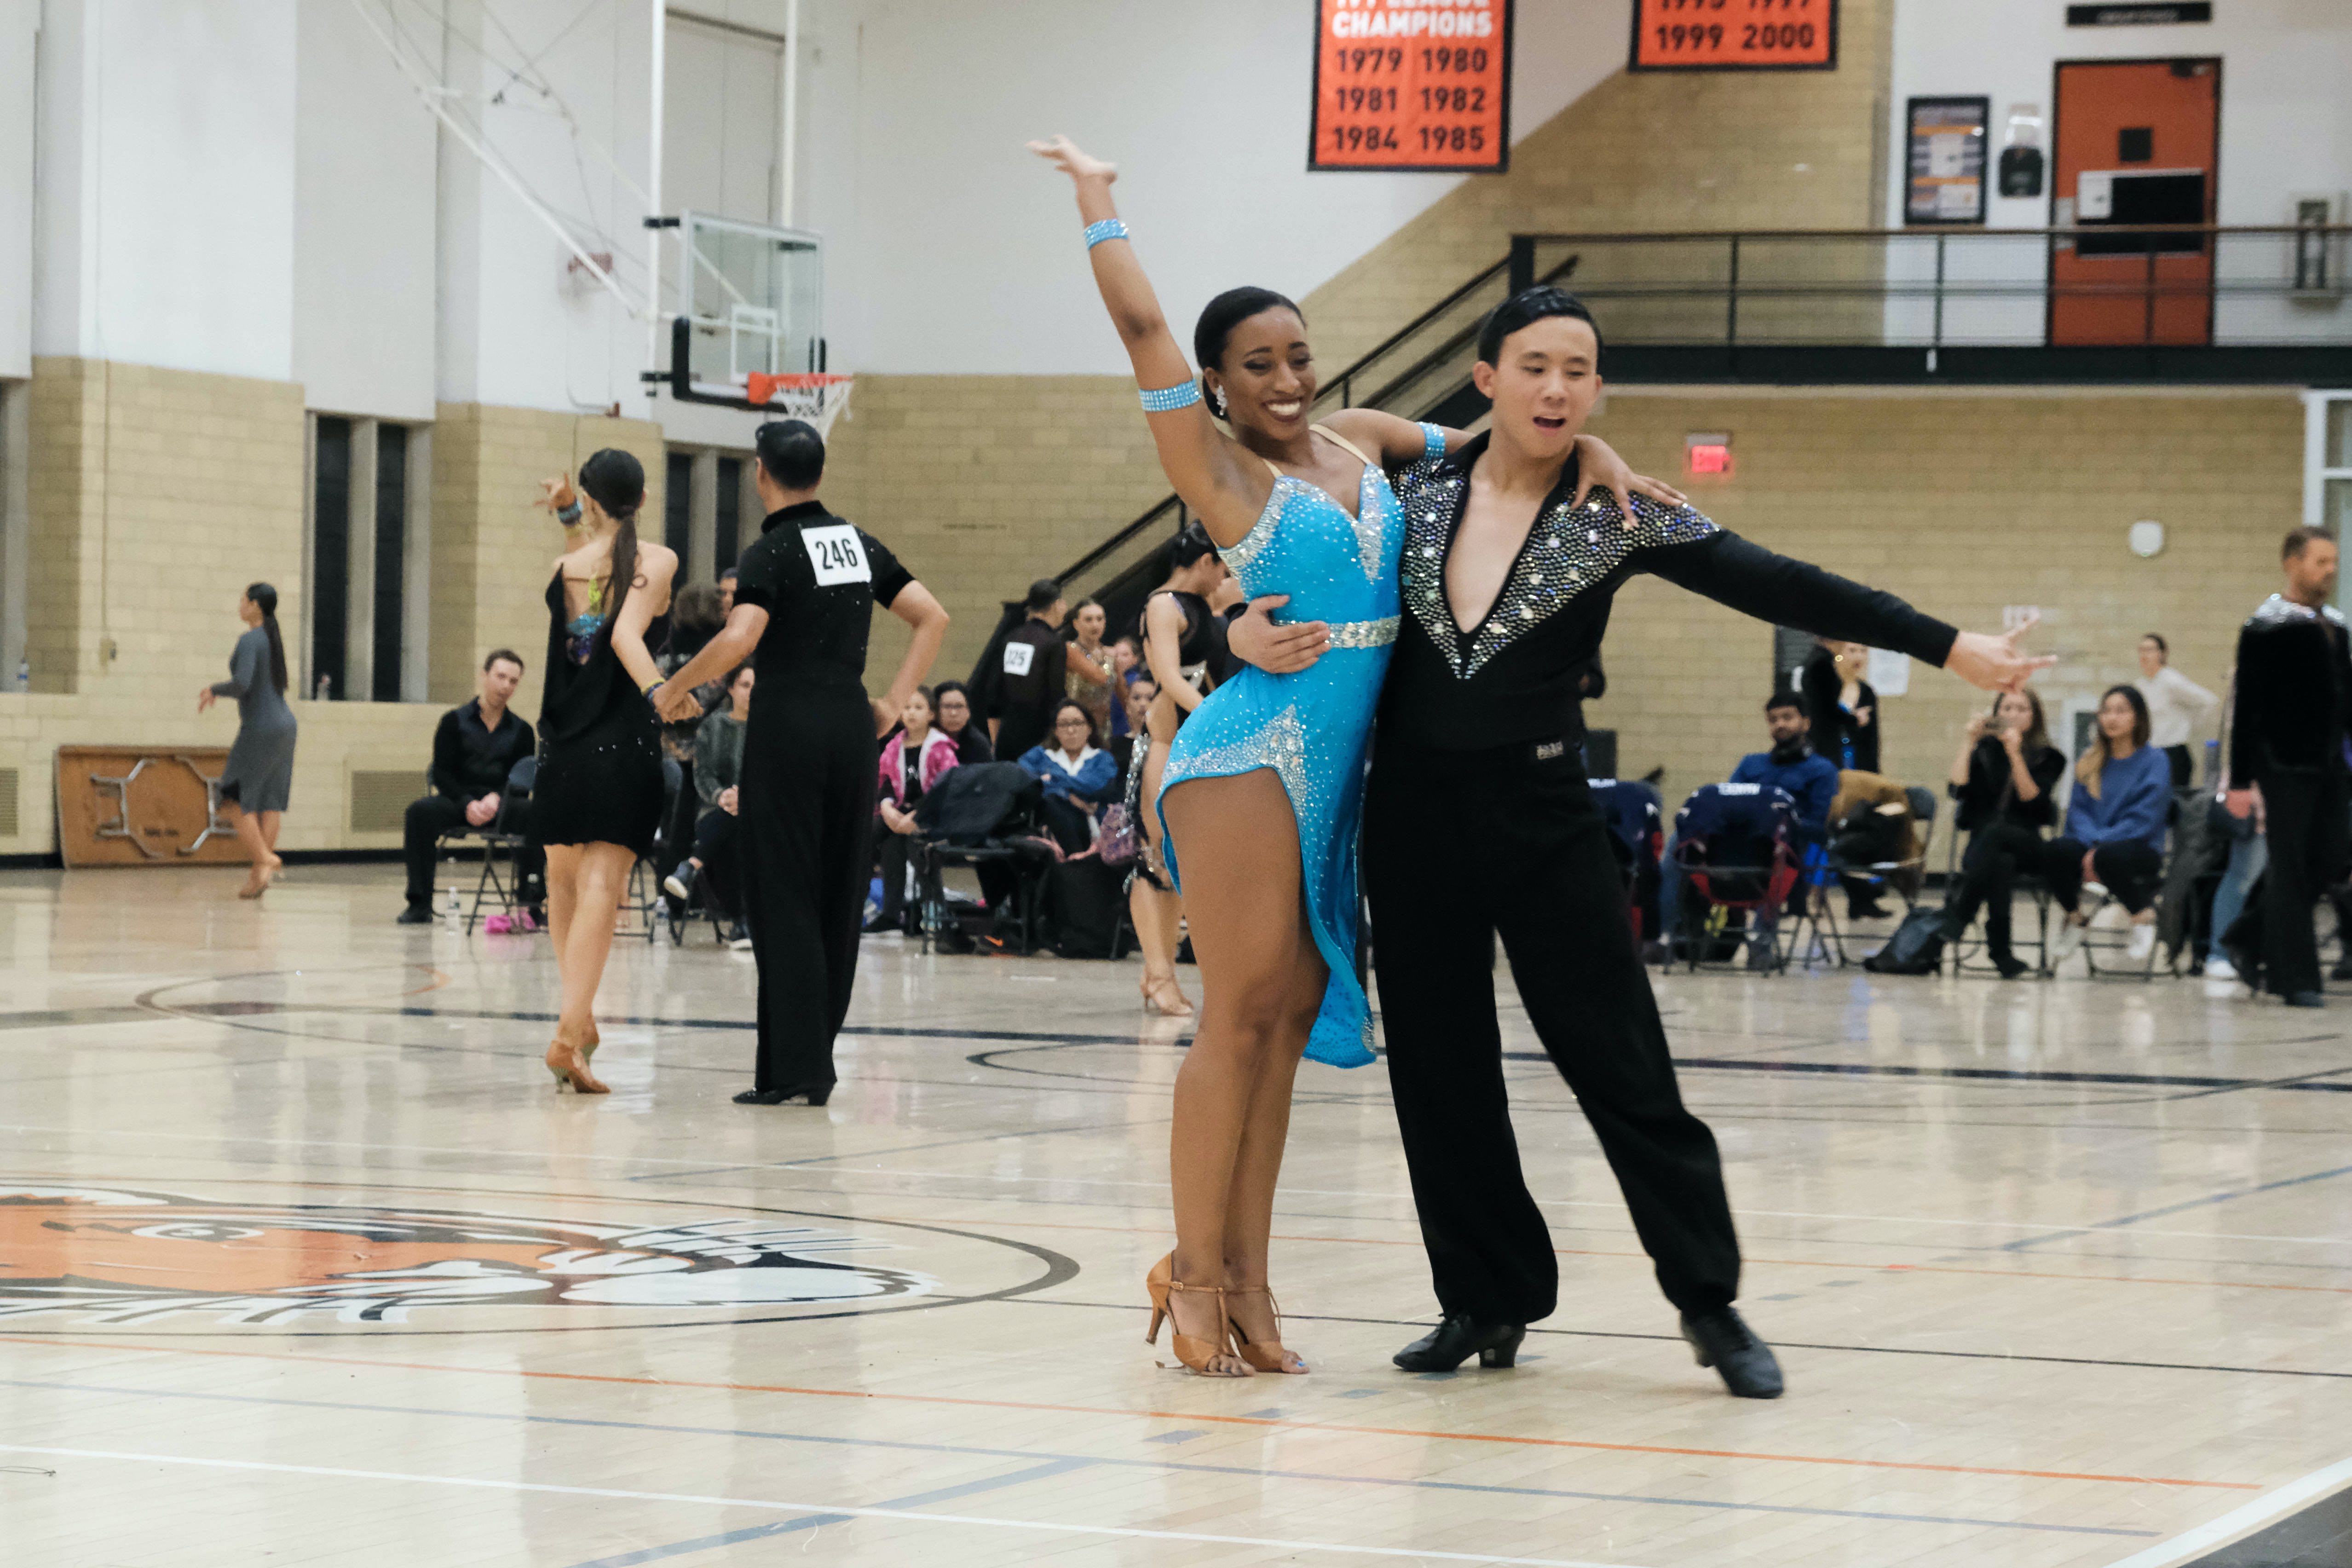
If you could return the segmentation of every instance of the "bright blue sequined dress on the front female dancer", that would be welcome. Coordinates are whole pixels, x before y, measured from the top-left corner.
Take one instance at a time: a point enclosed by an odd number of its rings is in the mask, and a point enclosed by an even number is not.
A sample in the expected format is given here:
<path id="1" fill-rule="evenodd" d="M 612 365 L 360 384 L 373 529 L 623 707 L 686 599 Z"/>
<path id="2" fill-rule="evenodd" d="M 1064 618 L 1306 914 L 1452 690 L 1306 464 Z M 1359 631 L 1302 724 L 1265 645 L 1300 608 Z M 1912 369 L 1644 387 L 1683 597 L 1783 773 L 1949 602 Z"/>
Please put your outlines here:
<path id="1" fill-rule="evenodd" d="M 1437 425 L 1421 430 L 1428 440 L 1421 461 L 1442 458 L 1444 433 Z M 1322 435 L 1338 440 L 1329 430 Z M 1371 1004 L 1355 978 L 1355 844 L 1371 717 L 1381 705 L 1381 679 L 1388 675 L 1402 614 L 1402 548 L 1404 515 L 1378 463 L 1364 463 L 1355 517 L 1322 487 L 1277 470 L 1275 494 L 1265 498 L 1256 527 L 1218 555 L 1251 599 L 1291 595 L 1284 621 L 1327 621 L 1331 651 L 1296 675 L 1244 668 L 1211 691 L 1176 731 L 1160 783 L 1162 856 L 1176 877 L 1178 846 L 1167 830 L 1169 790 L 1188 778 L 1232 778 L 1256 769 L 1272 769 L 1282 778 L 1298 816 L 1308 926 L 1331 966 L 1308 1056 L 1334 1067 L 1374 1060 Z"/>

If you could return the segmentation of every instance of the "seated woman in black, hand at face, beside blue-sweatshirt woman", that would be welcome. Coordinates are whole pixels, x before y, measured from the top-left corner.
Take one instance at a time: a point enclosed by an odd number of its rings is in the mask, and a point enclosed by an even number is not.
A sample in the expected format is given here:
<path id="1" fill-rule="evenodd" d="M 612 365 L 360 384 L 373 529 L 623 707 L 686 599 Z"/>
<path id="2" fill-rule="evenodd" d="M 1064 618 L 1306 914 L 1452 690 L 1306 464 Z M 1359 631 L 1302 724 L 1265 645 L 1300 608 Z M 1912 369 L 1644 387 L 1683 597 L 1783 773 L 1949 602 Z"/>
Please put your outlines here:
<path id="1" fill-rule="evenodd" d="M 1985 957 L 2004 980 L 2025 973 L 2011 952 L 2009 905 L 2018 870 L 2042 865 L 2042 835 L 2058 825 L 2065 755 L 2051 745 L 2042 698 L 2004 691 L 1992 715 L 1973 715 L 1952 757 L 1952 827 L 1969 835 L 1959 884 L 1943 903 L 1940 938 L 1957 943 L 1985 910 Z"/>

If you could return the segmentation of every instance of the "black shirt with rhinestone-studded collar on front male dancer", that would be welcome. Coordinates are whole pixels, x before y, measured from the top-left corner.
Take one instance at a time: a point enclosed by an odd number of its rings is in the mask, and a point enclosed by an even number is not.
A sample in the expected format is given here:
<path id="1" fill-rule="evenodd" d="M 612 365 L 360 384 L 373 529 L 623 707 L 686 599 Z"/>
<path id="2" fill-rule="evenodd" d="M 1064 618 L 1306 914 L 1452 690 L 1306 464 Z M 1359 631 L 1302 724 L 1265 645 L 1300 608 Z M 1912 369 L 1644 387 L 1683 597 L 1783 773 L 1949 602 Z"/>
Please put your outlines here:
<path id="1" fill-rule="evenodd" d="M 1454 623 L 1446 557 L 1486 435 L 1397 480 L 1404 508 L 1404 625 L 1381 698 L 1381 738 L 1430 750 L 1486 750 L 1583 729 L 1576 684 L 1599 656 L 1616 590 L 1637 571 L 1766 623 L 1900 649 L 1943 665 L 1955 628 L 1891 592 L 1773 555 L 1691 508 L 1635 496 L 1628 527 L 1595 491 L 1573 508 L 1576 458 L 1536 512 L 1526 543 L 1475 628 Z M 1573 733 L 1573 731 L 1571 731 Z"/>

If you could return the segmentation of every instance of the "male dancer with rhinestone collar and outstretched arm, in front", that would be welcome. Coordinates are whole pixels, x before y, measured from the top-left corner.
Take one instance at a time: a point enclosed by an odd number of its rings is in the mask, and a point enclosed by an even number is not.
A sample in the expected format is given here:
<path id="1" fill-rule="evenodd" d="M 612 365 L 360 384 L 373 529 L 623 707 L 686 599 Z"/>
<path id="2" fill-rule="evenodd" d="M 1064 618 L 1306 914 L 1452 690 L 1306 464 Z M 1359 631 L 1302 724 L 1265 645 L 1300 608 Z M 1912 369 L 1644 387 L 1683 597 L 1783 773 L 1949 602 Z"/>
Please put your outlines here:
<path id="1" fill-rule="evenodd" d="M 1903 649 L 1978 686 L 2016 686 L 2049 661 L 2016 651 L 2025 628 L 1955 632 L 1686 505 L 1637 496 L 1628 520 L 1592 491 L 1576 510 L 1599 331 L 1559 289 L 1496 308 L 1472 376 L 1494 400 L 1491 430 L 1397 482 L 1406 616 L 1364 797 L 1388 1077 L 1444 1309 L 1395 1361 L 1510 1366 L 1526 1324 L 1557 1305 L 1552 1234 L 1519 1173 L 1503 1088 L 1501 931 L 1529 1023 L 1599 1135 L 1698 1363 L 1733 1394 L 1773 1399 L 1780 1366 L 1731 1307 L 1740 1248 L 1715 1135 L 1675 1086 L 1585 788 L 1576 682 L 1637 571 L 1764 621 Z M 1315 642 L 1315 628 L 1270 632 L 1258 607 L 1237 630 L 1242 656 L 1277 672 L 1312 663 Z"/>

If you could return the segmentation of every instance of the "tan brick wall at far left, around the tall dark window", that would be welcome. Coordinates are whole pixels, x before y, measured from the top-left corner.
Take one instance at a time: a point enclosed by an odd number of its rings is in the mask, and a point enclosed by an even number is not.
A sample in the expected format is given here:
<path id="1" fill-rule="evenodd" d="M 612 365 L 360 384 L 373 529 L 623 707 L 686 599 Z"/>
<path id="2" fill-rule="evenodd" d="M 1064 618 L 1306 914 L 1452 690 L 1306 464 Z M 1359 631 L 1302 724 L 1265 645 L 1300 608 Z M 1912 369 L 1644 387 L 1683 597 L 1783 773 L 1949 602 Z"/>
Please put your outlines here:
<path id="1" fill-rule="evenodd" d="M 539 705 L 548 567 L 562 538 L 529 508 L 539 477 L 597 447 L 647 465 L 661 515 L 661 430 L 640 421 L 447 404 L 433 435 L 430 703 L 294 701 L 294 797 L 282 849 L 397 844 L 348 830 L 350 773 L 416 769 L 433 724 L 473 691 L 480 654 L 510 644 L 532 663 L 520 708 Z M 33 693 L 0 693 L 0 769 L 21 776 L 19 837 L 56 846 L 56 748 L 75 743 L 228 745 L 235 710 L 195 712 L 226 675 L 242 628 L 238 595 L 278 585 L 287 654 L 301 625 L 303 390 L 96 360 L 35 360 L 28 658 Z M 115 656 L 103 646 L 113 642 Z"/>

